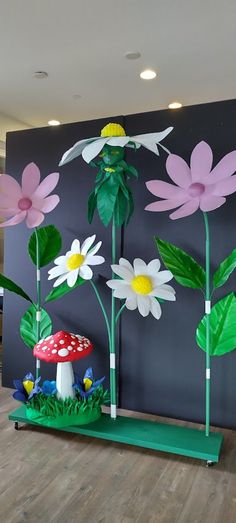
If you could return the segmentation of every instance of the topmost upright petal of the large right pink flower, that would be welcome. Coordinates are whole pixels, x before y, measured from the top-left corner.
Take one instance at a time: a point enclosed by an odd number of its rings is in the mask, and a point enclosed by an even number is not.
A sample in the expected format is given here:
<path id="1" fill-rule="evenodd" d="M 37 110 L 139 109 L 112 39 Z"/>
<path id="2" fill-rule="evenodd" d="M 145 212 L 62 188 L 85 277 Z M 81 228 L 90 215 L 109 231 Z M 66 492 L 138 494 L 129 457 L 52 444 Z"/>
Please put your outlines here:
<path id="1" fill-rule="evenodd" d="M 210 173 L 213 162 L 213 154 L 210 146 L 206 142 L 200 142 L 194 147 L 191 154 L 190 167 L 192 181 L 203 182 Z"/>

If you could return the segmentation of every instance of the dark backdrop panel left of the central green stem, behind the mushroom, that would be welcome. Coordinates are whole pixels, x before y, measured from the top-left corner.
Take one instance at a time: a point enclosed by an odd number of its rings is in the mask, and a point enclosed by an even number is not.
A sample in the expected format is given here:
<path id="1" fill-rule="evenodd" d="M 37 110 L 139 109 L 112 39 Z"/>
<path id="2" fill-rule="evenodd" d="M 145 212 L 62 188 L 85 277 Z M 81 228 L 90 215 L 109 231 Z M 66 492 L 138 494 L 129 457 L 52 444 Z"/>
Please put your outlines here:
<path id="1" fill-rule="evenodd" d="M 123 123 L 121 117 L 116 118 Z M 61 232 L 62 253 L 71 246 L 74 238 L 81 240 L 96 233 L 97 241 L 102 240 L 101 254 L 110 260 L 110 229 L 104 229 L 96 217 L 92 225 L 87 223 L 87 198 L 93 188 L 96 169 L 89 167 L 81 158 L 58 168 L 62 154 L 76 141 L 90 136 L 99 136 L 107 120 L 96 120 L 63 125 L 60 128 L 42 128 L 9 133 L 7 137 L 7 172 L 20 180 L 25 165 L 34 161 L 41 170 L 42 178 L 54 171 L 60 171 L 59 184 L 54 192 L 61 202 L 56 209 L 45 215 L 42 225 L 53 223 Z M 18 282 L 26 292 L 36 297 L 34 266 L 27 255 L 27 242 L 33 231 L 24 224 L 9 227 L 5 234 L 5 275 Z M 120 252 L 120 233 L 118 233 L 118 255 Z M 47 280 L 49 267 L 42 269 L 42 292 L 45 297 L 51 290 L 53 281 Z M 97 282 L 101 287 L 106 305 L 111 298 L 110 290 L 101 285 L 103 279 L 110 278 L 109 265 L 94 268 Z M 103 283 L 103 282 L 102 282 Z M 15 377 L 21 377 L 28 370 L 34 370 L 31 350 L 24 346 L 19 335 L 20 318 L 27 309 L 25 300 L 6 292 L 4 296 L 3 325 L 3 385 L 12 386 Z M 75 371 L 84 371 L 92 365 L 96 376 L 106 374 L 109 379 L 109 358 L 107 335 L 103 317 L 94 291 L 88 283 L 46 305 L 53 320 L 54 332 L 65 329 L 88 336 L 95 343 L 95 350 L 88 358 L 73 364 Z M 43 378 L 53 378 L 54 365 L 42 363 Z M 108 384 L 108 381 L 107 381 Z"/>

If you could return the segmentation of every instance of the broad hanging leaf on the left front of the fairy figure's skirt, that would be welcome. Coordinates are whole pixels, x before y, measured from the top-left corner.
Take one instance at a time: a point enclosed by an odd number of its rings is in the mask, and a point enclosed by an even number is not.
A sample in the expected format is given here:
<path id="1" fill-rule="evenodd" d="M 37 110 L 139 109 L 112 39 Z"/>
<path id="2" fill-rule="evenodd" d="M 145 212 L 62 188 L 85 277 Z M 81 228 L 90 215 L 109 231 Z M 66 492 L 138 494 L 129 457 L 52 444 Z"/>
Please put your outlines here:
<path id="1" fill-rule="evenodd" d="M 112 219 L 118 191 L 119 179 L 114 175 L 110 175 L 97 191 L 98 214 L 105 226 L 107 226 Z"/>

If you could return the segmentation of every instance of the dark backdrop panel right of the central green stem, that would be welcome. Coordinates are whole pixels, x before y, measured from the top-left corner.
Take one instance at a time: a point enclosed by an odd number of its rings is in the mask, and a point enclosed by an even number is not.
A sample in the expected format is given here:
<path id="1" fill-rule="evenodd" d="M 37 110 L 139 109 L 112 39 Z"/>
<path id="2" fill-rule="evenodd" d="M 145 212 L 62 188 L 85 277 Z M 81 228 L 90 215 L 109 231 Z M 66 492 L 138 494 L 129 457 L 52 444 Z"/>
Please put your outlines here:
<path id="1" fill-rule="evenodd" d="M 174 126 L 165 140 L 171 152 L 189 161 L 194 146 L 207 141 L 214 151 L 214 164 L 235 149 L 236 102 L 185 107 L 180 111 L 160 111 L 125 118 L 127 134 L 138 134 Z M 170 212 L 151 213 L 144 207 L 155 200 L 145 181 L 171 181 L 165 170 L 166 154 L 156 159 L 148 151 L 127 155 L 128 163 L 139 170 L 133 183 L 135 214 L 125 231 L 124 257 L 146 262 L 158 257 L 153 236 L 173 242 L 204 263 L 204 225 L 201 212 L 172 221 Z M 212 238 L 212 271 L 236 245 L 236 195 L 209 213 Z M 215 295 L 220 298 L 235 291 L 235 276 Z M 173 283 L 176 303 L 162 306 L 160 321 L 141 318 L 137 311 L 125 311 L 121 339 L 121 404 L 124 408 L 194 421 L 204 420 L 205 353 L 195 342 L 195 329 L 204 313 L 202 294 Z M 236 427 L 236 351 L 212 358 L 212 422 Z"/>

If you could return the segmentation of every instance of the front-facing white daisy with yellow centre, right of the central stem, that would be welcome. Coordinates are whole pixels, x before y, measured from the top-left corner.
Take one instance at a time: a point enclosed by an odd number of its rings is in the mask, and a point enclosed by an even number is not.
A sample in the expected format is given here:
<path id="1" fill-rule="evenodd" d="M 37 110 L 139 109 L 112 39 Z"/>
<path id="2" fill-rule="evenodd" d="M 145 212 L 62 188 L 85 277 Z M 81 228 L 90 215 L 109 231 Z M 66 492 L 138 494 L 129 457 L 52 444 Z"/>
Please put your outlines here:
<path id="1" fill-rule="evenodd" d="M 156 298 L 175 301 L 175 290 L 166 285 L 173 278 L 170 271 L 160 271 L 160 260 L 152 260 L 146 264 L 140 258 L 134 260 L 133 266 L 125 258 L 120 258 L 119 265 L 112 265 L 113 272 L 121 279 L 107 281 L 113 289 L 115 298 L 126 299 L 129 310 L 138 308 L 142 316 L 150 312 L 159 320 L 161 306 Z"/>

